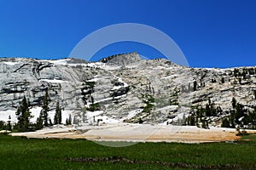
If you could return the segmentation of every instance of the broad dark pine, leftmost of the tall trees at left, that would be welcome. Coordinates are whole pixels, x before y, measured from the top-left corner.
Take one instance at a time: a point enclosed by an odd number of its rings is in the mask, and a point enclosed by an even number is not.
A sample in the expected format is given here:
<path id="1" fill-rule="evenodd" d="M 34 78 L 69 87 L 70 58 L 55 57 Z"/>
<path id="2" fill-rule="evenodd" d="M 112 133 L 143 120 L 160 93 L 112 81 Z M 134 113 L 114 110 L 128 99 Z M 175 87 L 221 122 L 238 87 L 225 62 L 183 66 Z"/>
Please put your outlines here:
<path id="1" fill-rule="evenodd" d="M 18 119 L 18 131 L 27 132 L 32 116 L 31 112 L 29 111 L 29 105 L 25 96 L 23 97 L 20 105 L 18 106 L 16 116 Z"/>

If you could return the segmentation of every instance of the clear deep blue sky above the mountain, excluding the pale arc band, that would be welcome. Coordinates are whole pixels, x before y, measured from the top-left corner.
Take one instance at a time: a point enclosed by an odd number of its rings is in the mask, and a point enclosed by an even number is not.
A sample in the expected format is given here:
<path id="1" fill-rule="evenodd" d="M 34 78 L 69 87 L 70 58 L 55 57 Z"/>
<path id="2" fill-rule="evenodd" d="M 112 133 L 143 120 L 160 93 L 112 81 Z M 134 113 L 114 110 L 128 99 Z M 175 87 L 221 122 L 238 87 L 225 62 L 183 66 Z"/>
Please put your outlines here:
<path id="1" fill-rule="evenodd" d="M 68 57 L 92 31 L 125 22 L 164 31 L 190 66 L 256 65 L 255 0 L 1 0 L 0 57 Z M 116 45 L 98 56 L 160 55 L 142 44 Z"/>

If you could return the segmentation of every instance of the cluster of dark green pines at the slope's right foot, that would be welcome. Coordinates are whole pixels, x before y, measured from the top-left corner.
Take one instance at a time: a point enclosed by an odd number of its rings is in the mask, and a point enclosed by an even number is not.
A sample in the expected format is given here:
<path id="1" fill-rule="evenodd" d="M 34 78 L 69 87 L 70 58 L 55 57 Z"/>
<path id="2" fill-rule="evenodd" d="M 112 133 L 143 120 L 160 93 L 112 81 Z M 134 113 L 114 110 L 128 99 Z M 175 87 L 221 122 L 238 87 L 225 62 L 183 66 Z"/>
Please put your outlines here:
<path id="1" fill-rule="evenodd" d="M 256 129 L 256 106 L 253 106 L 252 109 L 246 105 L 241 105 L 234 97 L 231 100 L 231 105 L 230 111 L 223 111 L 220 106 L 215 106 L 211 99 L 208 99 L 205 107 L 196 106 L 191 109 L 184 125 L 208 128 L 209 124 L 214 122 L 211 118 L 216 117 L 216 122 L 221 121 L 221 127 Z"/>

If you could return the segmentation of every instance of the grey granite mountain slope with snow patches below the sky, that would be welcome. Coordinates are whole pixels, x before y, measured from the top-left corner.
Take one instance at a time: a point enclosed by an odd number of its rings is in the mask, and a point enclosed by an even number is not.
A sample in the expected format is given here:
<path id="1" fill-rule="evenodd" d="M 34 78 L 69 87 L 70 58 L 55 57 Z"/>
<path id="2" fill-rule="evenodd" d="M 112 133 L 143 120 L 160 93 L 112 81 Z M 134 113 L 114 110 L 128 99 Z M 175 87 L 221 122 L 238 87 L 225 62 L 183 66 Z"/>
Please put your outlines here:
<path id="1" fill-rule="evenodd" d="M 253 110 L 256 67 L 189 68 L 136 53 L 99 62 L 0 59 L 0 114 L 15 111 L 24 95 L 32 108 L 41 106 L 46 90 L 50 109 L 60 101 L 62 110 L 72 111 L 75 124 L 96 119 L 183 124 L 193 111 L 211 105 L 216 114 L 207 121 L 219 125 L 230 116 L 233 97 Z"/>

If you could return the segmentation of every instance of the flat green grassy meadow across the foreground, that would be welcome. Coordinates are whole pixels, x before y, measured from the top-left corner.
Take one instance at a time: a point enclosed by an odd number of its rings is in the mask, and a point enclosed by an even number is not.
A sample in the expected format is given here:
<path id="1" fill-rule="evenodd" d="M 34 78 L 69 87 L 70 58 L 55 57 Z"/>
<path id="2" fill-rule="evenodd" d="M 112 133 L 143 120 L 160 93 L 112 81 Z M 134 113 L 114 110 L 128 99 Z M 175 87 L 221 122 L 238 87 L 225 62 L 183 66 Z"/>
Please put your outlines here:
<path id="1" fill-rule="evenodd" d="M 236 144 L 140 143 L 112 148 L 84 139 L 0 135 L 0 169 L 256 169 L 256 136 Z"/>

